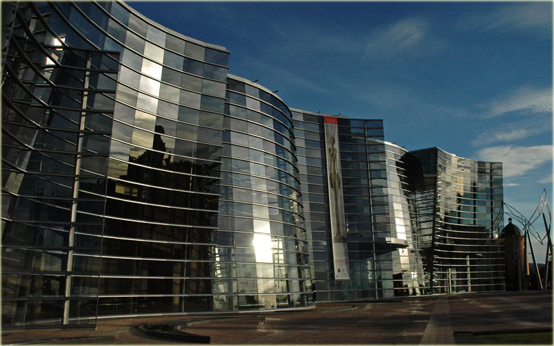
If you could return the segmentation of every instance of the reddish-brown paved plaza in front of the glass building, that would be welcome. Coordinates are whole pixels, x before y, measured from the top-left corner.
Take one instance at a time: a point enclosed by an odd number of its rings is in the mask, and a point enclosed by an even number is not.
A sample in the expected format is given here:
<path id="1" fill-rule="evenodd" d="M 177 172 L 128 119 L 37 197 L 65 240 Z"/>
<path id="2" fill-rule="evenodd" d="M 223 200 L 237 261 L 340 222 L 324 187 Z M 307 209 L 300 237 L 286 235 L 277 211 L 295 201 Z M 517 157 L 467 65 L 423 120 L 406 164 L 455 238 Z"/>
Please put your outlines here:
<path id="1" fill-rule="evenodd" d="M 552 330 L 552 291 L 461 293 L 318 304 L 304 311 L 99 319 L 94 329 L 2 331 L 1 343 L 185 343 L 139 331 L 165 323 L 212 344 L 468 343 L 470 333 Z"/>

